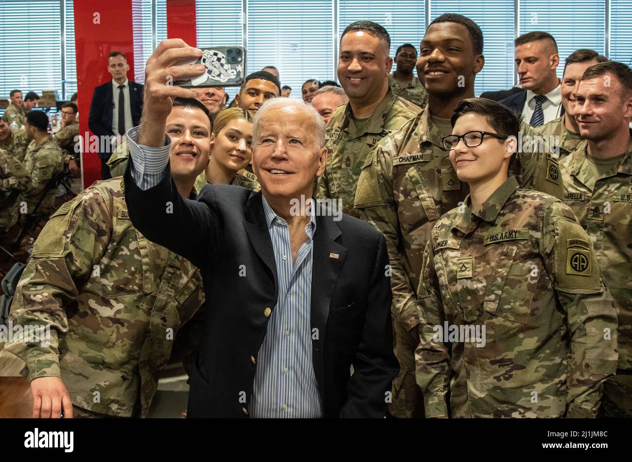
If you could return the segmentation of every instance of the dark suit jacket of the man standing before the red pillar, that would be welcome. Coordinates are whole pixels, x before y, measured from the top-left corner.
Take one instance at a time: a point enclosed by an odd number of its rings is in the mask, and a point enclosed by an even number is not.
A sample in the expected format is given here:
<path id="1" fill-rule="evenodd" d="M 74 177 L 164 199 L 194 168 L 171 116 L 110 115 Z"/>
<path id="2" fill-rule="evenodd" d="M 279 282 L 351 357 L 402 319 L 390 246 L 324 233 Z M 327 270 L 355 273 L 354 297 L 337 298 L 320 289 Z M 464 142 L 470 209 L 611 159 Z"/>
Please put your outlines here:
<path id="1" fill-rule="evenodd" d="M 140 116 L 143 112 L 143 85 L 131 80 L 128 82 L 130 83 L 131 122 L 133 126 L 137 126 L 140 124 Z M 96 136 L 114 136 L 114 132 L 112 132 L 112 110 L 114 109 L 112 95 L 111 80 L 103 85 L 95 86 L 94 93 L 92 93 L 88 127 Z M 109 158 L 112 154 L 112 146 L 101 141 L 99 141 L 99 146 L 104 148 L 104 151 L 99 151 L 99 157 Z"/>

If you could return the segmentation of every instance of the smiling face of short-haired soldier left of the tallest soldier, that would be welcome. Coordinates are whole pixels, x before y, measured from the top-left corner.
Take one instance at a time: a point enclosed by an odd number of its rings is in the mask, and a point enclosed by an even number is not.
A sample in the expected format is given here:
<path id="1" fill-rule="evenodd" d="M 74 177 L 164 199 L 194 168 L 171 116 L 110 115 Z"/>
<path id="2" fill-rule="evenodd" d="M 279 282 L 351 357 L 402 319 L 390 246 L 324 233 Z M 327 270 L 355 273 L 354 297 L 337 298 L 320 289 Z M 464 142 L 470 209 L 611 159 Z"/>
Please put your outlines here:
<path id="1" fill-rule="evenodd" d="M 350 100 L 365 104 L 382 95 L 392 64 L 386 44 L 370 32 L 355 30 L 340 40 L 338 81 Z"/>

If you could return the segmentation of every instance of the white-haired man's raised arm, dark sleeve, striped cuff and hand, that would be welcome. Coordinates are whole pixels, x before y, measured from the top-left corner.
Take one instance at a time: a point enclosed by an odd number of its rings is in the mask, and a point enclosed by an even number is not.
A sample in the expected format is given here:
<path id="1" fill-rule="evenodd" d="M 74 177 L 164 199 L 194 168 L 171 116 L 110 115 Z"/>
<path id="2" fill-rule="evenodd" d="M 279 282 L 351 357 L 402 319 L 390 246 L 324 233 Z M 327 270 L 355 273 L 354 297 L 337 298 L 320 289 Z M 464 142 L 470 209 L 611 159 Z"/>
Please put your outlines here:
<path id="1" fill-rule="evenodd" d="M 128 131 L 130 160 L 125 172 L 125 200 L 133 225 L 147 239 L 201 267 L 210 252 L 216 217 L 204 203 L 183 199 L 171 178 L 165 134 L 173 98 L 197 96 L 195 90 L 170 85 L 204 72 L 204 66 L 179 66 L 201 56 L 180 39 L 164 40 L 147 61 L 145 105 L 140 126 Z M 212 201 L 212 191 L 207 198 Z"/>

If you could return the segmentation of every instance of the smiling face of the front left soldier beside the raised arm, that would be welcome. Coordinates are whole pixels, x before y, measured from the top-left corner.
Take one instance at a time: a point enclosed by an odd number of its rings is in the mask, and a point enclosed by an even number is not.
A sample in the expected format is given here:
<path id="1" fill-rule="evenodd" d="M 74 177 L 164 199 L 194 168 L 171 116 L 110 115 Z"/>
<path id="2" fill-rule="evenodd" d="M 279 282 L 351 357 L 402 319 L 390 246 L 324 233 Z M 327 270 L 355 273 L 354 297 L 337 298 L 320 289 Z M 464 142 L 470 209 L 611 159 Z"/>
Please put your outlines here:
<path id="1" fill-rule="evenodd" d="M 167 117 L 166 131 L 171 138 L 171 175 L 176 181 L 195 179 L 209 162 L 209 117 L 196 107 L 174 106 Z"/>

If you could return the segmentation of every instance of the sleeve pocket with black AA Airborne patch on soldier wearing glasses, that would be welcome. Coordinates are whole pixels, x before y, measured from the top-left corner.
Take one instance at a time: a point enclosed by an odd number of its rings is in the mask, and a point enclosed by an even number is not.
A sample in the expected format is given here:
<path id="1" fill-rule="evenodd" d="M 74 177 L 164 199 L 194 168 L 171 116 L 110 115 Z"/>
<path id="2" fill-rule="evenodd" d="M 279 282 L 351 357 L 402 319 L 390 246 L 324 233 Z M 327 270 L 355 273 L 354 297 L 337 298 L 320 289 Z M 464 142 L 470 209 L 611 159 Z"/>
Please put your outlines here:
<path id="1" fill-rule="evenodd" d="M 579 223 L 555 220 L 553 271 L 557 289 L 569 293 L 602 292 L 601 271 L 590 237 Z"/>

